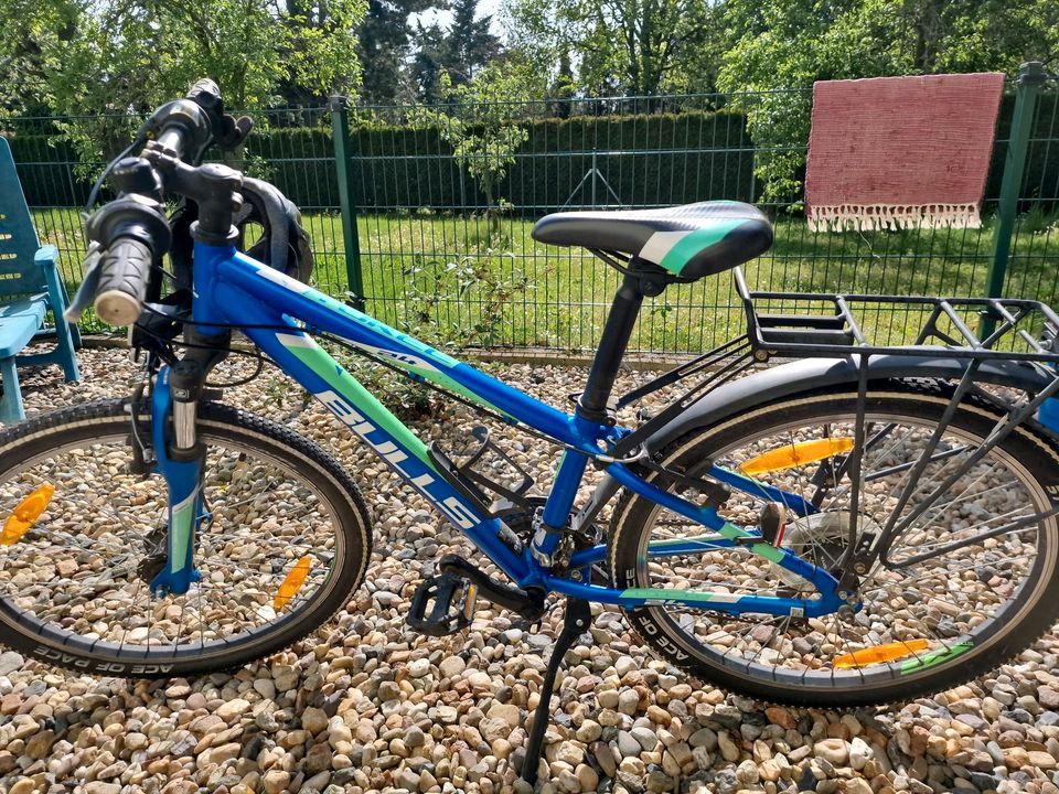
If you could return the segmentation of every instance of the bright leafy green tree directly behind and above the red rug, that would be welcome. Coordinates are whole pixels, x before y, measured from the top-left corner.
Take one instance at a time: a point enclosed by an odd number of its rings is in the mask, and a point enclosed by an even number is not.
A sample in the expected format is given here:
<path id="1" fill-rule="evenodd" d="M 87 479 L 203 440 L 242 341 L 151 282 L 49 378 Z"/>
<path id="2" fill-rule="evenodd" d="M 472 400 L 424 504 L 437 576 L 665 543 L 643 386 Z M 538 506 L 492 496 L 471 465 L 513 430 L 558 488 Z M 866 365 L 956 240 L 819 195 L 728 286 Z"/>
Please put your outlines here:
<path id="1" fill-rule="evenodd" d="M 801 195 L 817 79 L 999 71 L 1059 47 L 1055 0 L 728 0 L 718 76 L 747 112 L 772 201 Z"/>

